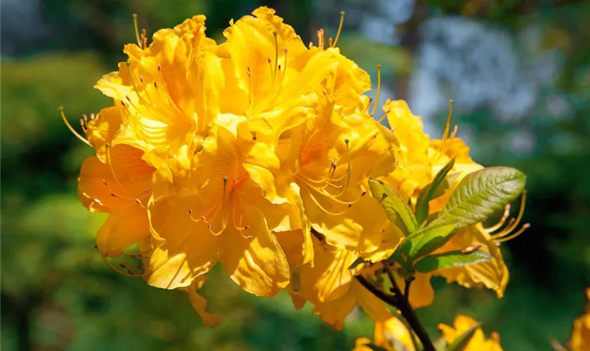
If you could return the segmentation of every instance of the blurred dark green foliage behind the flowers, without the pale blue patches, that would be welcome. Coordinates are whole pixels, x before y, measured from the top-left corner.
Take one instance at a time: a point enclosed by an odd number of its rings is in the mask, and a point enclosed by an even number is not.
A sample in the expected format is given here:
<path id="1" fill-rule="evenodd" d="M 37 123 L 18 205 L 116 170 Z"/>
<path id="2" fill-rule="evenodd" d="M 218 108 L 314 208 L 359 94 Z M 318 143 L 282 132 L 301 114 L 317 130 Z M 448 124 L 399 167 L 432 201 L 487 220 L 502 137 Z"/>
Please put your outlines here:
<path id="1" fill-rule="evenodd" d="M 91 150 L 63 126 L 58 107 L 75 121 L 110 103 L 92 86 L 133 41 L 131 13 L 148 32 L 205 13 L 209 35 L 218 39 L 230 18 L 261 3 L 277 8 L 305 41 L 317 27 L 334 25 L 312 0 L 41 1 L 50 33 L 15 44 L 16 55 L 0 62 L 0 350 L 350 350 L 354 338 L 369 335 L 371 323 L 360 313 L 339 333 L 313 317 L 310 306 L 295 311 L 286 294 L 256 299 L 215 272 L 204 294 L 225 321 L 202 327 L 183 293 L 152 289 L 103 264 L 93 234 L 104 218 L 91 216 L 76 197 L 79 165 Z M 419 311 L 431 332 L 454 314 L 471 314 L 487 331 L 499 331 L 506 350 L 546 350 L 549 338 L 568 336 L 590 285 L 590 5 L 430 0 L 419 6 L 426 8 L 419 21 L 451 13 L 509 32 L 529 20 L 544 23 L 544 45 L 563 57 L 557 83 L 539 94 L 567 100 L 572 108 L 565 116 L 539 109 L 518 122 L 500 121 L 482 108 L 455 117 L 474 131 L 478 161 L 516 166 L 528 176 L 525 220 L 532 228 L 504 247 L 511 268 L 506 297 L 436 281 L 434 305 Z M 339 11 L 333 10 L 336 20 Z M 402 32 L 416 30 L 410 24 Z M 339 46 L 368 72 L 381 63 L 386 77 L 402 84 L 416 54 L 407 43 L 376 44 L 351 29 Z M 441 112 L 435 120 L 442 119 Z M 537 141 L 526 156 L 506 146 L 520 126 Z"/>

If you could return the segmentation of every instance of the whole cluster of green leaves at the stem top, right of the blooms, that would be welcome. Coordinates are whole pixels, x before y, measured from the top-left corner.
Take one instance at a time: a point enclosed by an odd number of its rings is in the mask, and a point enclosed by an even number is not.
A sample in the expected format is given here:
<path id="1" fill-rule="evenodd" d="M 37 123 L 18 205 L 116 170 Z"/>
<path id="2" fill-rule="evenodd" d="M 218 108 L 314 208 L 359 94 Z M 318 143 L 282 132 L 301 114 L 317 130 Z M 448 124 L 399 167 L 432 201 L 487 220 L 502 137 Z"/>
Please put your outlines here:
<path id="1" fill-rule="evenodd" d="M 477 248 L 433 252 L 445 245 L 459 230 L 490 218 L 516 199 L 525 188 L 526 177 L 515 168 L 483 168 L 461 180 L 450 194 L 446 206 L 439 213 L 428 216 L 429 202 L 445 194 L 457 178 L 457 174 L 449 174 L 453 166 L 454 159 L 451 159 L 440 169 L 432 183 L 419 193 L 414 209 L 392 187 L 381 180 L 369 179 L 373 197 L 381 203 L 389 220 L 405 234 L 388 260 L 400 263 L 410 275 L 413 272 L 433 272 L 490 260 L 492 257 L 489 253 Z"/>

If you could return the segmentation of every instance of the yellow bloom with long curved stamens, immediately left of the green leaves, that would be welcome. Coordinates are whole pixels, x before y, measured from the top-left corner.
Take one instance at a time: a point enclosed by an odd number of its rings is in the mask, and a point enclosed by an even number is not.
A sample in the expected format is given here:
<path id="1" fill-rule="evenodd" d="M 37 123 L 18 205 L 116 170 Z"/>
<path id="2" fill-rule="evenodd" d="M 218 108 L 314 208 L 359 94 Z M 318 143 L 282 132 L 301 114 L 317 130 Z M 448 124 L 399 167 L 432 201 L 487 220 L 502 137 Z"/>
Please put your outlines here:
<path id="1" fill-rule="evenodd" d="M 391 170 L 393 154 L 372 117 L 340 112 L 328 95 L 317 117 L 291 130 L 282 161 L 291 173 L 282 183 L 299 186 L 306 218 L 328 244 L 372 251 L 381 244 L 387 220 L 364 183 Z"/>

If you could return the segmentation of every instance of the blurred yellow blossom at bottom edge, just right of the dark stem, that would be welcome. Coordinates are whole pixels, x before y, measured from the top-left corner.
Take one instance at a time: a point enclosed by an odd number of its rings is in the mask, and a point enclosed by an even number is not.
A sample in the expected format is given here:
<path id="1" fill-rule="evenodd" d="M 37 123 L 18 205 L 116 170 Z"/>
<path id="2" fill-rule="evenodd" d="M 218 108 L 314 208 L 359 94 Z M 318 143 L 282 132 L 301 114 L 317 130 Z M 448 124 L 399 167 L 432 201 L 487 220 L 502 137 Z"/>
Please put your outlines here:
<path id="1" fill-rule="evenodd" d="M 447 326 L 445 324 L 438 324 L 438 329 L 440 329 L 442 336 L 445 337 L 447 340 L 447 344 L 451 344 L 457 337 L 461 336 L 463 333 L 468 331 L 473 326 L 476 326 L 478 323 L 472 319 L 471 317 L 467 317 L 464 315 L 459 314 L 455 317 L 453 326 Z M 500 337 L 498 333 L 492 333 L 492 336 L 487 339 L 481 328 L 478 328 L 476 332 L 473 334 L 471 340 L 465 347 L 466 351 L 502 351 L 502 347 L 500 345 Z"/>

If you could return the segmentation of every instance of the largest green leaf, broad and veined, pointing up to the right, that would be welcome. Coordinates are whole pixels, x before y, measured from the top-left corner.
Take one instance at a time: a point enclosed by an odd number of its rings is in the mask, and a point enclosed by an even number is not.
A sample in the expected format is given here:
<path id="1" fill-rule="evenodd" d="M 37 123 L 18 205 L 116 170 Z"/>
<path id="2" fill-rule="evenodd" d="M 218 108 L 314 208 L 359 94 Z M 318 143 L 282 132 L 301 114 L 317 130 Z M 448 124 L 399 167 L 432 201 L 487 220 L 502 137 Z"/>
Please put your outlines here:
<path id="1" fill-rule="evenodd" d="M 480 223 L 516 199 L 525 183 L 526 176 L 515 168 L 490 167 L 469 173 L 435 221 L 457 219 L 457 230 Z"/>

